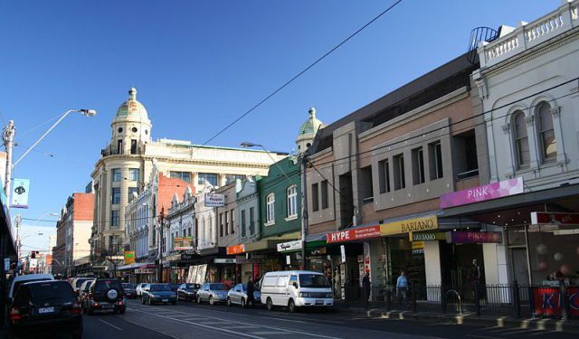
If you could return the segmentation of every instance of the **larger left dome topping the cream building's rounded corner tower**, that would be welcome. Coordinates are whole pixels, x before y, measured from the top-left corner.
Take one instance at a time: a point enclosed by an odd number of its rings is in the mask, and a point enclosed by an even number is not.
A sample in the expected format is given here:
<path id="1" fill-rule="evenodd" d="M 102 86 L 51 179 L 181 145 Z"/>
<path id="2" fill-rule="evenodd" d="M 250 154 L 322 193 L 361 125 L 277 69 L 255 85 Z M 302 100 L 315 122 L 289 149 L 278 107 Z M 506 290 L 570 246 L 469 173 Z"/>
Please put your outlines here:
<path id="1" fill-rule="evenodd" d="M 128 100 L 117 109 L 112 120 L 111 148 L 119 155 L 138 154 L 138 149 L 151 141 L 151 120 L 147 109 L 137 101 L 137 89 L 128 90 Z"/>

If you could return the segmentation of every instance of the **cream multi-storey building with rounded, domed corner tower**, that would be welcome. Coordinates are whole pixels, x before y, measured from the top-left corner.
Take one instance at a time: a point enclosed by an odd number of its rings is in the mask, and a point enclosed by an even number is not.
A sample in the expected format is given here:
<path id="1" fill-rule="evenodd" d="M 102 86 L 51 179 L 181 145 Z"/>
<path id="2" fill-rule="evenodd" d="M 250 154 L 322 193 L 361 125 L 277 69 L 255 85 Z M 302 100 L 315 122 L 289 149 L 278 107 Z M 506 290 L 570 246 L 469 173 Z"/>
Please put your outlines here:
<path id="1" fill-rule="evenodd" d="M 266 175 L 274 161 L 286 156 L 182 140 L 153 141 L 152 123 L 147 109 L 137 100 L 137 89 L 128 93 L 128 100 L 120 105 L 111 123 L 109 144 L 91 174 L 95 203 L 90 247 L 95 259 L 102 250 L 117 250 L 126 242 L 124 209 L 133 193 L 145 187 L 154 165 L 167 177 L 182 179 L 194 192 L 202 192 L 205 183 L 221 186 L 240 176 Z M 149 243 L 149 249 L 156 246 Z"/>

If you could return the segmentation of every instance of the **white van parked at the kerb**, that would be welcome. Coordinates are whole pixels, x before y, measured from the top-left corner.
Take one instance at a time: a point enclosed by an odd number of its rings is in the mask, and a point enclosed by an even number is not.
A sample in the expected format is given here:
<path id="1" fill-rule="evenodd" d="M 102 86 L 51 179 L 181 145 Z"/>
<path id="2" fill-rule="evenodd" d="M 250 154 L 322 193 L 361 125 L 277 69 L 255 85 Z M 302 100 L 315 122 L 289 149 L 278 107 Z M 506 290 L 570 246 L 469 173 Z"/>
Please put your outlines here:
<path id="1" fill-rule="evenodd" d="M 298 307 L 334 306 L 334 293 L 327 278 L 318 272 L 289 270 L 266 273 L 260 281 L 261 303 L 272 310 L 288 306 L 289 312 Z"/>

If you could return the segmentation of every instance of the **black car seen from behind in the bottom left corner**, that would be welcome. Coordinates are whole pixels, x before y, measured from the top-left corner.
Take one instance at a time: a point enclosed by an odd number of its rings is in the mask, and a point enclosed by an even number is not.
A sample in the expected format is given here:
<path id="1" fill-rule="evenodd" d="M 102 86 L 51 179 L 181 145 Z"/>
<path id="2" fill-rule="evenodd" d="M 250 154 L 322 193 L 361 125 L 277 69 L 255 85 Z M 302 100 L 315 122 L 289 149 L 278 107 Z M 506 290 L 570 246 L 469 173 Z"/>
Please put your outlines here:
<path id="1" fill-rule="evenodd" d="M 16 291 L 9 314 L 10 335 L 38 333 L 82 337 L 82 310 L 67 281 L 29 282 Z"/>

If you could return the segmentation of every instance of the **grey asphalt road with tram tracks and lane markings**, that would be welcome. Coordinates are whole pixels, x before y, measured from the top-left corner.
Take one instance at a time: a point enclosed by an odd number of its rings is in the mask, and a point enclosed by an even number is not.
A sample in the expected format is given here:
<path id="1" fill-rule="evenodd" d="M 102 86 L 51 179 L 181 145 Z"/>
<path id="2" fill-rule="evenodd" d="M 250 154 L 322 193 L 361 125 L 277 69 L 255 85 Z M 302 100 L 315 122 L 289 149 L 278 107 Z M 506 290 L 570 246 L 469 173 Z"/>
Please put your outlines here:
<path id="1" fill-rule="evenodd" d="M 569 338 L 574 334 L 451 324 L 428 324 L 394 319 L 371 319 L 342 312 L 242 309 L 237 306 L 146 306 L 128 301 L 125 315 L 84 315 L 85 338 L 215 339 L 215 338 Z"/>

